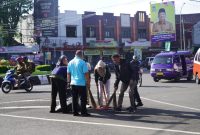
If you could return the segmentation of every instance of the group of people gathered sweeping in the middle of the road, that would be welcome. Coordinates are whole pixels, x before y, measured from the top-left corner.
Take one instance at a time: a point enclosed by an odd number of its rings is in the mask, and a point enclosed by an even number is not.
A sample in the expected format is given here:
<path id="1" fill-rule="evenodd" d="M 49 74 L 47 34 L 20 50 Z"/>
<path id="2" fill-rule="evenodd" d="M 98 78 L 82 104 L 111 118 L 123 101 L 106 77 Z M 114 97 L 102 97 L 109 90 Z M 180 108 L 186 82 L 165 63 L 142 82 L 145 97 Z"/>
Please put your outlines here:
<path id="1" fill-rule="evenodd" d="M 114 63 L 116 80 L 114 83 L 115 91 L 118 89 L 119 82 L 121 81 L 120 94 L 118 103 L 113 104 L 116 111 L 122 110 L 122 103 L 124 92 L 129 89 L 130 112 L 135 112 L 137 106 L 142 106 L 143 103 L 140 99 L 137 90 L 137 81 L 139 78 L 139 63 L 135 56 L 131 62 L 126 62 L 121 59 L 120 55 L 115 54 L 112 56 Z M 90 88 L 90 71 L 89 66 L 83 59 L 83 52 L 77 50 L 75 57 L 68 63 L 66 56 L 61 56 L 52 71 L 52 94 L 51 94 L 51 109 L 50 112 L 56 112 L 56 95 L 59 93 L 61 111 L 68 113 L 66 103 L 66 87 L 71 87 L 72 91 L 72 112 L 74 116 L 90 116 L 87 112 L 87 96 Z M 94 78 L 97 87 L 97 99 L 100 107 L 104 106 L 104 99 L 106 105 L 110 99 L 110 78 L 111 72 L 109 67 L 103 60 L 99 60 L 94 68 Z M 91 96 L 91 95 L 90 95 Z M 80 98 L 79 98 L 80 97 Z M 79 106 L 80 99 L 80 106 Z M 136 104 L 137 102 L 137 104 Z M 79 113 L 81 112 L 81 114 Z"/>

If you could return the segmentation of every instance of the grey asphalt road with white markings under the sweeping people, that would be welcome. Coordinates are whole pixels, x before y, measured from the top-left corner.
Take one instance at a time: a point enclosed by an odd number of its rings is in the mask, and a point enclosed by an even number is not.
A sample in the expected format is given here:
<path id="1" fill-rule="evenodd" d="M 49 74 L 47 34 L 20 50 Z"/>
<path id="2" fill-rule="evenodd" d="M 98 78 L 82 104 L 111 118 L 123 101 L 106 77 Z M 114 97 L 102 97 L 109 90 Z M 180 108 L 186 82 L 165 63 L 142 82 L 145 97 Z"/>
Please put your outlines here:
<path id="1" fill-rule="evenodd" d="M 114 75 L 111 80 L 111 91 Z M 96 99 L 94 81 L 91 86 Z M 128 93 L 123 111 L 89 109 L 92 117 L 49 113 L 50 85 L 0 92 L 1 135 L 184 135 L 200 134 L 200 85 L 194 81 L 153 82 L 143 75 L 139 92 L 144 103 L 136 113 L 129 106 Z M 112 93 L 112 92 L 111 92 Z"/>

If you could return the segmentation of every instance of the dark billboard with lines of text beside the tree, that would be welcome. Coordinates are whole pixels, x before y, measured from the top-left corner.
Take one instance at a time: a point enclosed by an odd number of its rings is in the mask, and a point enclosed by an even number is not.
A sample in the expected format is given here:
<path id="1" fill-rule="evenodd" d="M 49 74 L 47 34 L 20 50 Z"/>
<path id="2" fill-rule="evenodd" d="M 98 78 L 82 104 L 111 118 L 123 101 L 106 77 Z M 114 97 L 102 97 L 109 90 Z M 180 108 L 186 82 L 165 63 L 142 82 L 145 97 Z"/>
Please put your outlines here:
<path id="1" fill-rule="evenodd" d="M 58 0 L 34 0 L 36 36 L 58 36 Z"/>

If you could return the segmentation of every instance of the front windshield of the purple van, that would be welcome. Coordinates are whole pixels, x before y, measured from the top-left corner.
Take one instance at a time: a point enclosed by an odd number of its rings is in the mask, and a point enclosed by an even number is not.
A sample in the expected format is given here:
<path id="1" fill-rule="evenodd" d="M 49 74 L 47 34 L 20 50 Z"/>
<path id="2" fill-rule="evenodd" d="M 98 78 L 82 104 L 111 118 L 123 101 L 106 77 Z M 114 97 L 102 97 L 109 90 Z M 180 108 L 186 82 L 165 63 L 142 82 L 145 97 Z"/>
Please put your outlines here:
<path id="1" fill-rule="evenodd" d="M 157 56 L 153 60 L 153 64 L 171 64 L 172 56 Z"/>

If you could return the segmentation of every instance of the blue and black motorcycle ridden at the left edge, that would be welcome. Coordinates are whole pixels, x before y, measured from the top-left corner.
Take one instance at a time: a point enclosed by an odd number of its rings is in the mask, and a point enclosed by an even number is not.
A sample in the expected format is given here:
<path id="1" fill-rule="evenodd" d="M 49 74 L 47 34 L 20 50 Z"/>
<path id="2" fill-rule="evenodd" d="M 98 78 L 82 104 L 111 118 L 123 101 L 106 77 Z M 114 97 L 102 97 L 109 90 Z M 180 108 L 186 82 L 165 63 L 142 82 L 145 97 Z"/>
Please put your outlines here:
<path id="1" fill-rule="evenodd" d="M 30 76 L 19 77 L 14 74 L 15 70 L 8 70 L 1 84 L 1 89 L 4 93 L 9 93 L 14 89 L 25 89 L 27 92 L 31 92 L 33 84 L 30 81 Z M 19 78 L 19 79 L 18 79 Z"/>

